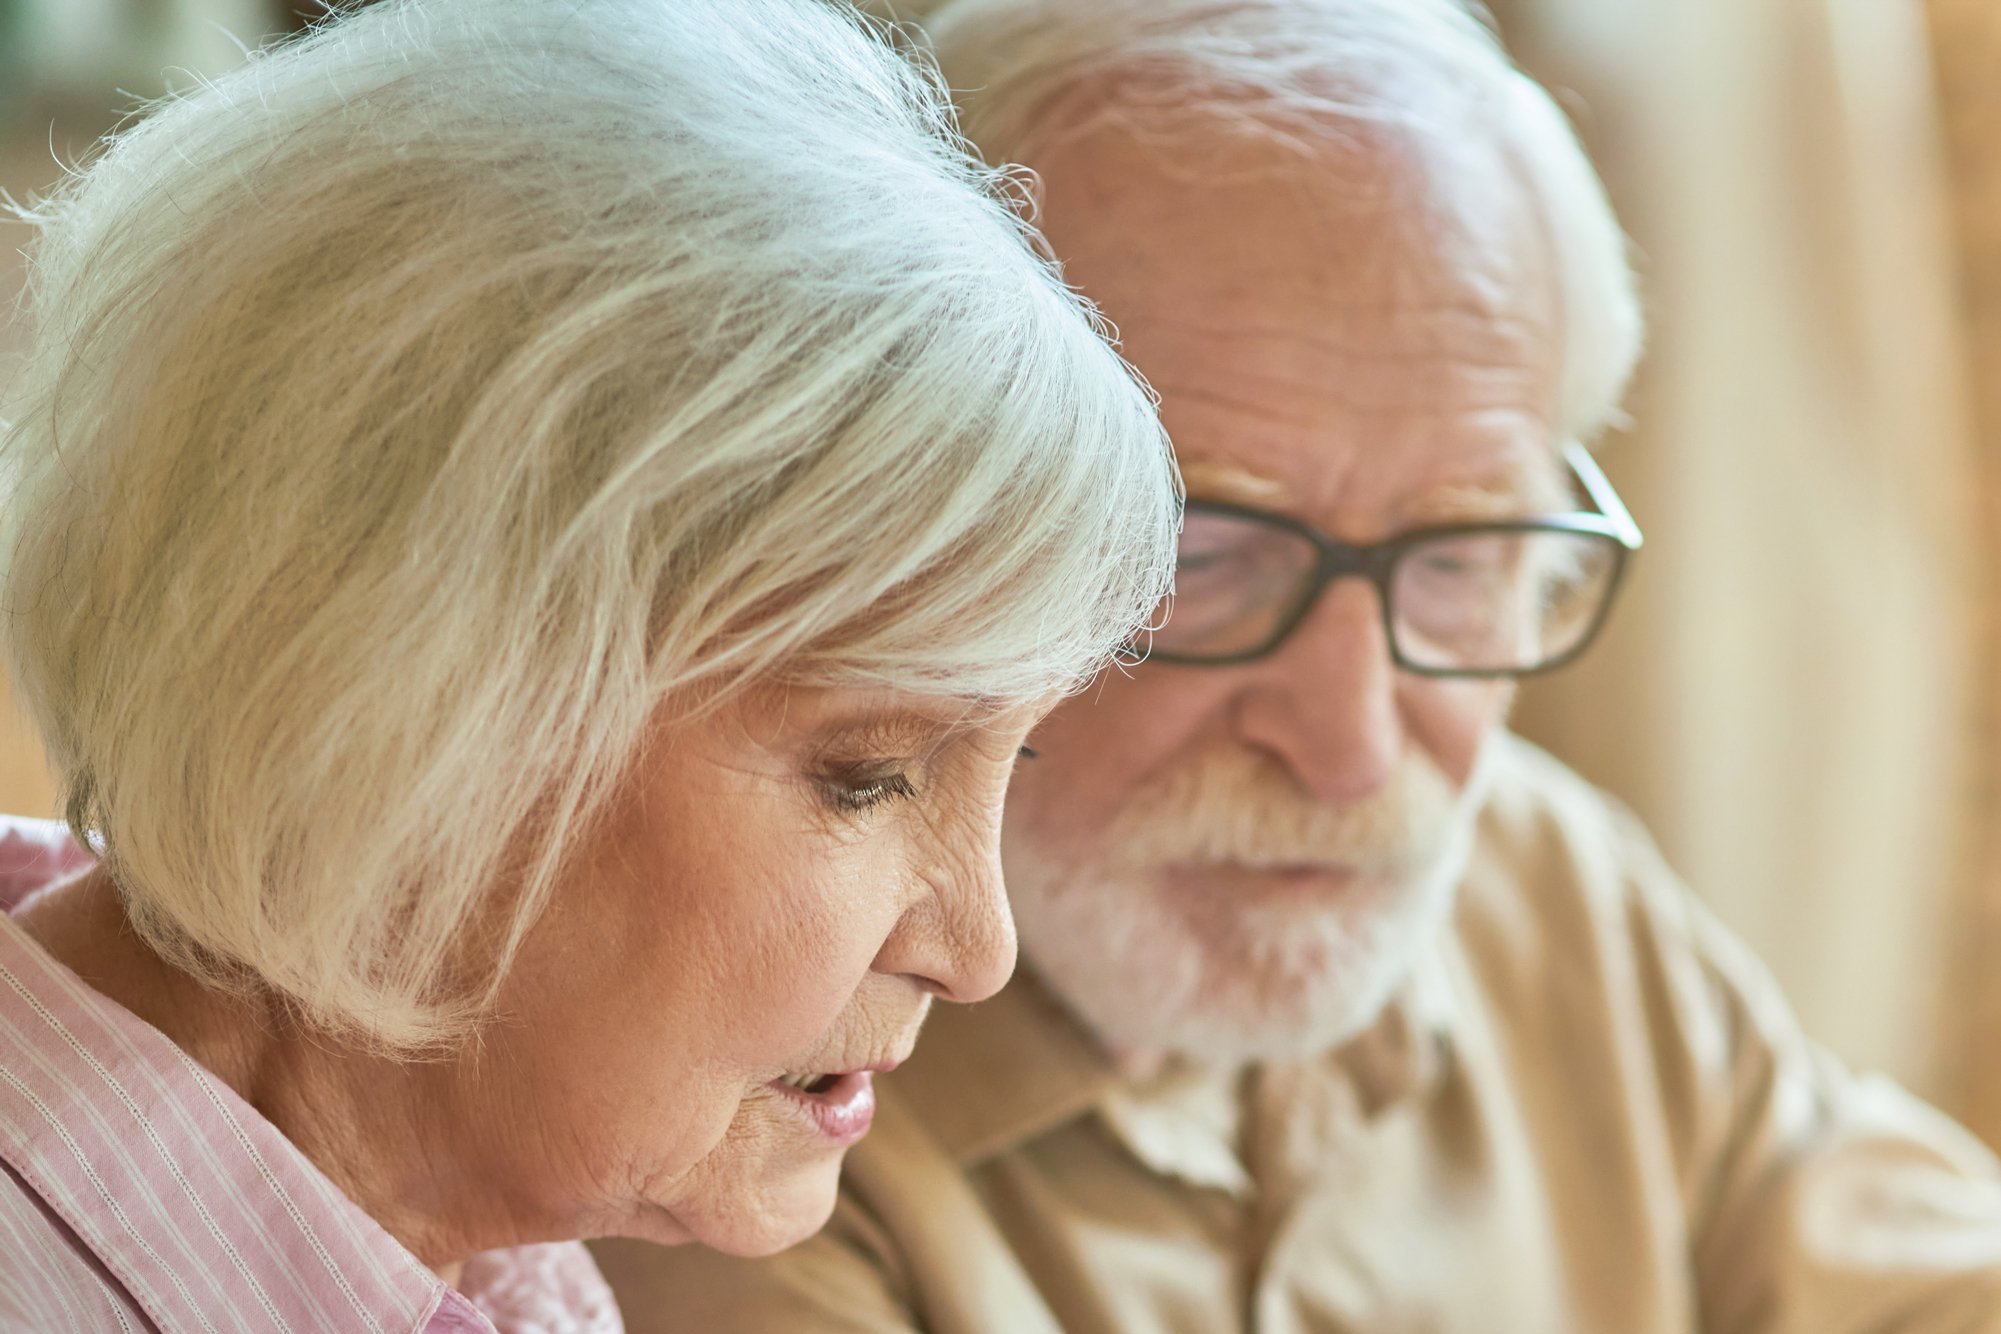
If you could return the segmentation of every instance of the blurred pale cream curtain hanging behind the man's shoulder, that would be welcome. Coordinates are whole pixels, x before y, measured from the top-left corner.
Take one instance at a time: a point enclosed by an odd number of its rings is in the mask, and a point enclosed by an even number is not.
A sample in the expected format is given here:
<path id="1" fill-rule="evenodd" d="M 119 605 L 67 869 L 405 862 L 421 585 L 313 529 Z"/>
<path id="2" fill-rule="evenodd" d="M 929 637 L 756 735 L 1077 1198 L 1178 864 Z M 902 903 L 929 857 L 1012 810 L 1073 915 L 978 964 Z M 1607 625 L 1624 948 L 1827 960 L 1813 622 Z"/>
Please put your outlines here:
<path id="1" fill-rule="evenodd" d="M 1575 94 L 1653 326 L 1605 454 L 1649 550 L 1523 728 L 1641 810 L 1811 1032 L 1951 1100 L 1977 472 L 1923 10 L 1497 10 Z"/>

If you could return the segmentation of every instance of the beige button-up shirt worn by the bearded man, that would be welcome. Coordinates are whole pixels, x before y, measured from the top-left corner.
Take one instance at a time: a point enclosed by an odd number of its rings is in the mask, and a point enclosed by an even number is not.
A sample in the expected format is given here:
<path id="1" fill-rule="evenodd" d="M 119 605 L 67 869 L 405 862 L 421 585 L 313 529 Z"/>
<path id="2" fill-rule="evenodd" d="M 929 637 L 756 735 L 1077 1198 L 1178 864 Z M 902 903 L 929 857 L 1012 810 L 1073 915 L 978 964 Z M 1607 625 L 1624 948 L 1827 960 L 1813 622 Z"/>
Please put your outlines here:
<path id="1" fill-rule="evenodd" d="M 602 1246 L 628 1328 L 2001 1330 L 1995 1158 L 1803 1040 L 1605 796 L 1499 760 L 1451 934 L 1349 1048 L 1127 1086 L 1021 978 L 882 1080 L 818 1238 Z"/>

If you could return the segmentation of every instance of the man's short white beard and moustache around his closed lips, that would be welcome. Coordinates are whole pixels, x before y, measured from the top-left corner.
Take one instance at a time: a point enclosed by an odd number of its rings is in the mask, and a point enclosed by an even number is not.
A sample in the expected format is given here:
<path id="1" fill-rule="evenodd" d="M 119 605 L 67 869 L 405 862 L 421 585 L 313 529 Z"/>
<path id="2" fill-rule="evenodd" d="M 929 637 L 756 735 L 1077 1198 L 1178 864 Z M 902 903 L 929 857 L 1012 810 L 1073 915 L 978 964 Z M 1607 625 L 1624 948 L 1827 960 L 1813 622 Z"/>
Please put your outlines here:
<path id="1" fill-rule="evenodd" d="M 1485 766 L 1481 766 L 1485 768 Z M 1083 856 L 1003 824 L 1023 954 L 1115 1056 L 1297 1060 L 1383 1012 L 1453 910 L 1483 782 L 1423 756 L 1365 802 L 1311 802 L 1273 762 L 1219 752 L 1137 790 Z M 1165 868 L 1343 864 L 1333 892 L 1227 898 Z M 1191 880 L 1195 886 L 1191 888 Z"/>

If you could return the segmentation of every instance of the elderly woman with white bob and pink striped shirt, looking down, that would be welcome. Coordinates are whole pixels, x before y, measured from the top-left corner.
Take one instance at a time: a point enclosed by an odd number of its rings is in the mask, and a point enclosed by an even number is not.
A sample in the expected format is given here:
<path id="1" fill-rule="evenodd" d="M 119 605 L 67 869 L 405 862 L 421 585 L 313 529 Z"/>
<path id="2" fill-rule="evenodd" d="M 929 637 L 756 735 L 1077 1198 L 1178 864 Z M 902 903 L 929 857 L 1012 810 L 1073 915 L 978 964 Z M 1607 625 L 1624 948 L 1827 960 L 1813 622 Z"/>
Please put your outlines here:
<path id="1" fill-rule="evenodd" d="M 818 1226 L 1175 524 L 936 88 L 392 0 L 38 220 L 4 636 L 100 862 L 0 916 L 0 1328 L 612 1328 L 554 1242 Z"/>

